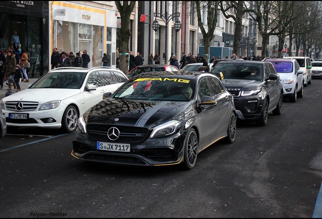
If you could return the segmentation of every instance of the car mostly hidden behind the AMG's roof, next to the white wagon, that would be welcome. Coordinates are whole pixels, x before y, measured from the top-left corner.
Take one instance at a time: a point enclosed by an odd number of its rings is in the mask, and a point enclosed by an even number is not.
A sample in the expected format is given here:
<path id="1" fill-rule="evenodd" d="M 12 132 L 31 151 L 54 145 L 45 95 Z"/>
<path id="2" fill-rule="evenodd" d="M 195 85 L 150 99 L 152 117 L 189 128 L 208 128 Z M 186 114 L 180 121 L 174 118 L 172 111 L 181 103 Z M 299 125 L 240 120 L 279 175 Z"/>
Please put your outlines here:
<path id="1" fill-rule="evenodd" d="M 139 65 L 133 68 L 129 74 L 128 78 L 133 78 L 134 76 L 137 76 L 143 72 L 149 72 L 149 71 L 173 71 L 173 72 L 179 72 L 179 68 L 177 68 L 174 65 L 169 64 L 147 64 L 147 65 Z"/>

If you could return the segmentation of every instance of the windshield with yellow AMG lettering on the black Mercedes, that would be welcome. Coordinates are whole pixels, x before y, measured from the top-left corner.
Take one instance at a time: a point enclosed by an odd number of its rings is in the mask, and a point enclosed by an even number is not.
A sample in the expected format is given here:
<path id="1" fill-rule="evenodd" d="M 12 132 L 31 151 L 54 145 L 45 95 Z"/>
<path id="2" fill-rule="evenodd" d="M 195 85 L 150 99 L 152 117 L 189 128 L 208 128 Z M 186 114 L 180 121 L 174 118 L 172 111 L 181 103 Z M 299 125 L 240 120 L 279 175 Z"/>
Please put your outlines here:
<path id="1" fill-rule="evenodd" d="M 140 100 L 188 101 L 194 80 L 176 76 L 137 78 L 126 82 L 114 98 Z"/>

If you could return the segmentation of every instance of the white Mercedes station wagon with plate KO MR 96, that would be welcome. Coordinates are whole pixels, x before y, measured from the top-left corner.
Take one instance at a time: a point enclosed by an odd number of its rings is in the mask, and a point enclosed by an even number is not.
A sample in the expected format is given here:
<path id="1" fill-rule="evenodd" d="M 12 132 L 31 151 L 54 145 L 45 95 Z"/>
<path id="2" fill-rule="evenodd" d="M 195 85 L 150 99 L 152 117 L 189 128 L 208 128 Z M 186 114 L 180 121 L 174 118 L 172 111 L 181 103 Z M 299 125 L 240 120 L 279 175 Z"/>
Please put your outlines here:
<path id="1" fill-rule="evenodd" d="M 76 129 L 79 115 L 128 80 L 112 67 L 60 67 L 50 70 L 27 89 L 0 100 L 8 127 Z"/>

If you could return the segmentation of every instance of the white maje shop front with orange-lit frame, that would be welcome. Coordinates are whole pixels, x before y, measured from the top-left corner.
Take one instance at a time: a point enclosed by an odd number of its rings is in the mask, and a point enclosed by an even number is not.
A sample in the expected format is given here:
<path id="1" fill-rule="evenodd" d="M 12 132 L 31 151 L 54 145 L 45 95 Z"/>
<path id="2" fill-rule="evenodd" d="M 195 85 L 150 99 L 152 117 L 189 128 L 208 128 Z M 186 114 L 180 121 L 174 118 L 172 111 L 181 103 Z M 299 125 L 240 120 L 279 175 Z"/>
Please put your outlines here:
<path id="1" fill-rule="evenodd" d="M 115 67 L 116 16 L 115 12 L 76 3 L 52 2 L 51 53 L 57 48 L 61 53 L 84 50 L 90 56 L 88 67 L 102 66 L 106 53 L 109 66 Z M 50 54 L 51 56 L 51 54 Z"/>

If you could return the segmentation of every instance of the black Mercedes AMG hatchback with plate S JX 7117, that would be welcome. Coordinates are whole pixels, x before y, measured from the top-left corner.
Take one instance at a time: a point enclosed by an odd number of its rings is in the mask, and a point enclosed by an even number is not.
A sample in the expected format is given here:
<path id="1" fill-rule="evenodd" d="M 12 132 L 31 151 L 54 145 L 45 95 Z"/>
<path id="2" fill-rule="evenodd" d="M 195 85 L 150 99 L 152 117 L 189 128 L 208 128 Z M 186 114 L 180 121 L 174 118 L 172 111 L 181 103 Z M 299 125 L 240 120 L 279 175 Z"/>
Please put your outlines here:
<path id="1" fill-rule="evenodd" d="M 146 72 L 79 118 L 71 154 L 108 164 L 192 169 L 198 153 L 223 138 L 232 143 L 235 134 L 233 98 L 216 76 Z"/>

